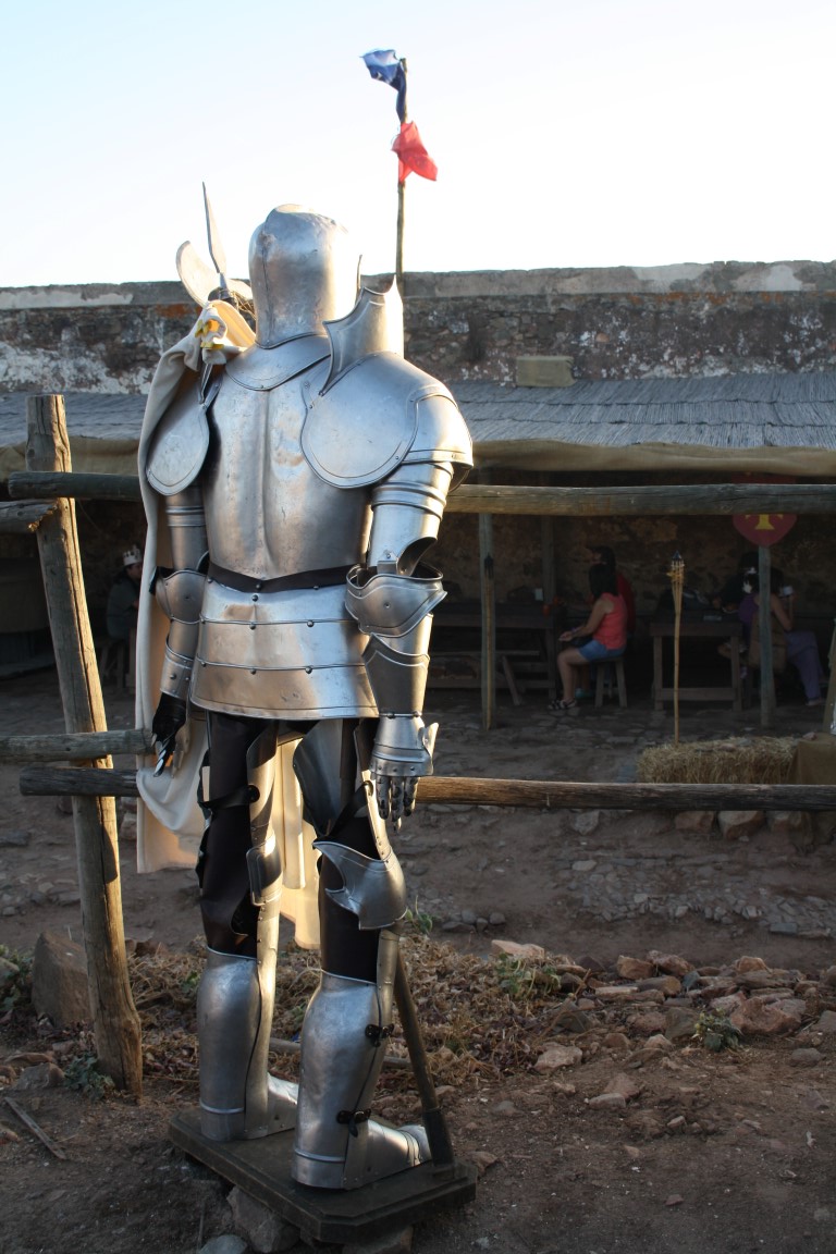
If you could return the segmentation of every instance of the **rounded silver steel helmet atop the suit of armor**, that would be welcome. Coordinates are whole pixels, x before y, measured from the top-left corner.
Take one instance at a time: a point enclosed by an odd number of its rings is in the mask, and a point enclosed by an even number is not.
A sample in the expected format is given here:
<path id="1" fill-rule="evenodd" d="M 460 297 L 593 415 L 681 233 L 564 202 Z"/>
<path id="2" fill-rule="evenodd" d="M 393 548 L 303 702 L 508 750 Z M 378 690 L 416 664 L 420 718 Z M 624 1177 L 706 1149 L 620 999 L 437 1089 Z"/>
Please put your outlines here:
<path id="1" fill-rule="evenodd" d="M 249 241 L 256 342 L 274 347 L 355 305 L 360 258 L 343 227 L 298 204 L 280 204 Z"/>

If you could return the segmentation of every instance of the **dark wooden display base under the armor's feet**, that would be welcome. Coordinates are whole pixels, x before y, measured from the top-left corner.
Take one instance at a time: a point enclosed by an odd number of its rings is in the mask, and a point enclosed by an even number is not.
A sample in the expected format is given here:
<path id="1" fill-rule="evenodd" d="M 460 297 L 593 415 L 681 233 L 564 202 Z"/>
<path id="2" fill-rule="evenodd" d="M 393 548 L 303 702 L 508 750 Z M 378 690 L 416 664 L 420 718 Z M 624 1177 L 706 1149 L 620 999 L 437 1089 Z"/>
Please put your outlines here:
<path id="1" fill-rule="evenodd" d="M 432 1162 L 400 1171 L 346 1193 L 311 1189 L 291 1179 L 293 1132 L 256 1141 L 209 1141 L 197 1109 L 175 1115 L 169 1136 L 178 1149 L 274 1210 L 303 1236 L 327 1245 L 368 1241 L 440 1210 L 464 1206 L 476 1195 L 476 1167 Z"/>

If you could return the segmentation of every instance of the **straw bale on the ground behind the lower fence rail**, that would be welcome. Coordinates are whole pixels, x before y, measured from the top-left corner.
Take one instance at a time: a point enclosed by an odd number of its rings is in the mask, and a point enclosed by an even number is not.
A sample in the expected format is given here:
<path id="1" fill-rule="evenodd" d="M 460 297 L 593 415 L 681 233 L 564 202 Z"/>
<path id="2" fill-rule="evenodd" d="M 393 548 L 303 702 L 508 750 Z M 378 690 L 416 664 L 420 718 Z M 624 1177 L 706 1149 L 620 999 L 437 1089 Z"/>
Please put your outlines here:
<path id="1" fill-rule="evenodd" d="M 741 736 L 656 745 L 637 761 L 639 784 L 786 784 L 797 741 Z"/>

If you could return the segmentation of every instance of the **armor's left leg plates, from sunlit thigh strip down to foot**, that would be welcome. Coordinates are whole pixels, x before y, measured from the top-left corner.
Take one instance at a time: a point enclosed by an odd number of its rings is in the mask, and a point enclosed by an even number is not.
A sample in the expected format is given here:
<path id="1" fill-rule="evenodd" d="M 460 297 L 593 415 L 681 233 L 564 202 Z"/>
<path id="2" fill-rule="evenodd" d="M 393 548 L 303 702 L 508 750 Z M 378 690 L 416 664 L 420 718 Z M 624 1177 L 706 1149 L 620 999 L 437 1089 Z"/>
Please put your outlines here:
<path id="1" fill-rule="evenodd" d="M 269 826 L 276 734 L 247 754 L 256 957 L 209 949 L 198 991 L 201 1130 L 212 1141 L 269 1136 L 295 1126 L 297 1086 L 267 1073 L 276 1001 L 282 869 Z"/>

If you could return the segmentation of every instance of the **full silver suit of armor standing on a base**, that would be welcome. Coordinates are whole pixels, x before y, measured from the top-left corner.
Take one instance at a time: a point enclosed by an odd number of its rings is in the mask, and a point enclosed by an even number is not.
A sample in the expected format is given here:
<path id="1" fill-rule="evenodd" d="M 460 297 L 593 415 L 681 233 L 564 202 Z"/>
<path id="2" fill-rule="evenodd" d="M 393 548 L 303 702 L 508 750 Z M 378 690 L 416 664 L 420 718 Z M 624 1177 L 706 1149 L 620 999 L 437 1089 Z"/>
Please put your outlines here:
<path id="1" fill-rule="evenodd" d="M 154 734 L 164 761 L 206 712 L 203 1134 L 295 1126 L 295 1179 L 352 1189 L 427 1156 L 421 1127 L 386 1127 L 368 1107 L 406 908 L 389 830 L 432 770 L 421 709 L 444 591 L 422 558 L 470 440 L 446 389 L 389 350 L 384 301 L 353 303 L 356 257 L 335 223 L 273 209 L 249 268 L 256 344 L 184 371 L 145 441 L 173 558 L 153 581 L 169 624 Z M 321 855 L 322 974 L 298 1092 L 267 1075 L 282 746 Z"/>

